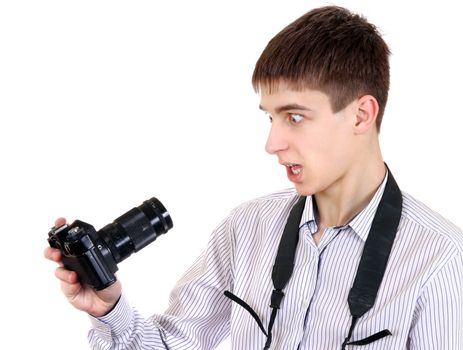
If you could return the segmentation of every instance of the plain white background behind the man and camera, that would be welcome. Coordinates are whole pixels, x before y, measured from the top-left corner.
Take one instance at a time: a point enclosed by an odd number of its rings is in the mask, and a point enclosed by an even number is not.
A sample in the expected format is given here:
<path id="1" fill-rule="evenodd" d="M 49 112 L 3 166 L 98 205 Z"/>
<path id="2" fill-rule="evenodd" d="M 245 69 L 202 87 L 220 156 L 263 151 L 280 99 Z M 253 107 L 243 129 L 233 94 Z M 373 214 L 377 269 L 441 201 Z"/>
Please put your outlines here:
<path id="1" fill-rule="evenodd" d="M 56 217 L 101 228 L 152 196 L 165 204 L 174 229 L 119 266 L 148 316 L 230 209 L 290 186 L 265 154 L 269 124 L 250 79 L 268 40 L 323 4 L 0 3 L 3 344 L 87 348 L 87 316 L 42 255 Z M 462 227 L 457 1 L 336 4 L 363 13 L 392 49 L 381 141 L 396 179 Z"/>

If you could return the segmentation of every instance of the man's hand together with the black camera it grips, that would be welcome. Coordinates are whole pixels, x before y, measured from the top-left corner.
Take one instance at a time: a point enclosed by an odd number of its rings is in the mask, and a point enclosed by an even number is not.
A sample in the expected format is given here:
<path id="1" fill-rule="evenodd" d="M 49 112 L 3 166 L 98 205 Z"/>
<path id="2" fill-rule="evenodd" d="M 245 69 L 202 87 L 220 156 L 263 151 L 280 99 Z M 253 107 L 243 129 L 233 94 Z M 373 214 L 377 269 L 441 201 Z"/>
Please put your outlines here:
<path id="1" fill-rule="evenodd" d="M 60 263 L 56 277 L 69 302 L 94 316 L 106 314 L 121 294 L 117 264 L 173 227 L 169 213 L 156 198 L 123 214 L 99 231 L 76 220 L 58 219 L 48 233 L 45 256 Z"/>

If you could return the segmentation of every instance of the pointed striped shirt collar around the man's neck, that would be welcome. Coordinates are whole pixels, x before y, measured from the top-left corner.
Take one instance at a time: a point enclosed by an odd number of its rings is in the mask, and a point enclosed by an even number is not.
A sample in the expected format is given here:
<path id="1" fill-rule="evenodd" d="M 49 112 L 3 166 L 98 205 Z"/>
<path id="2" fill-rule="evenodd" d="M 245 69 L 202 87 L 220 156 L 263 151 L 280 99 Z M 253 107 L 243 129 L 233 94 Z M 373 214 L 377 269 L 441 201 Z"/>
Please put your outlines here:
<path id="1" fill-rule="evenodd" d="M 368 205 L 363 208 L 363 210 L 358 213 L 350 222 L 346 225 L 349 226 L 354 232 L 363 240 L 366 241 L 368 233 L 370 231 L 373 218 L 375 217 L 376 210 L 378 208 L 381 197 L 384 193 L 384 188 L 386 187 L 388 172 L 386 171 L 386 176 L 384 176 L 383 182 L 376 190 L 373 198 L 370 200 Z M 314 203 L 313 196 L 308 196 L 305 201 L 304 212 L 302 213 L 301 222 L 299 223 L 299 228 L 301 228 L 305 223 L 315 222 L 315 212 L 314 212 Z M 344 227 L 346 227 L 344 226 Z"/>

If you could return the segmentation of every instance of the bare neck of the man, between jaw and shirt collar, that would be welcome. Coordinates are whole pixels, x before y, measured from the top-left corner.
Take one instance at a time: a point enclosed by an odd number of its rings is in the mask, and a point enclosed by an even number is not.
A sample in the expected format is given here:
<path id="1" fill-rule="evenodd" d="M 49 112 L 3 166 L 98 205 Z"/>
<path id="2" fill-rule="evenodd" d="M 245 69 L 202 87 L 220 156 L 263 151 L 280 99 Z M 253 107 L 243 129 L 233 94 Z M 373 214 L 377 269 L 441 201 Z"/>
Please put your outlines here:
<path id="1" fill-rule="evenodd" d="M 381 157 L 359 162 L 330 188 L 314 195 L 319 227 L 346 225 L 373 198 L 386 174 Z"/>

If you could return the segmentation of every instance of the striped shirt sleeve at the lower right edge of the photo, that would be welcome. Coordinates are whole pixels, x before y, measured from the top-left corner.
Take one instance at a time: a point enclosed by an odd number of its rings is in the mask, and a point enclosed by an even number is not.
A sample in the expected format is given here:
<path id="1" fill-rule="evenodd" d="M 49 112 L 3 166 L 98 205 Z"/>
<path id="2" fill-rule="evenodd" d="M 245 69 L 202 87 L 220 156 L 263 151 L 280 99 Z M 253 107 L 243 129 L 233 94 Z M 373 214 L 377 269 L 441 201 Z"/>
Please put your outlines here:
<path id="1" fill-rule="evenodd" d="M 462 266 L 458 253 L 426 283 L 417 301 L 409 349 L 463 348 Z"/>

